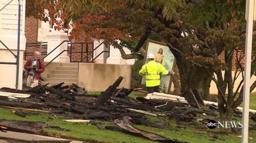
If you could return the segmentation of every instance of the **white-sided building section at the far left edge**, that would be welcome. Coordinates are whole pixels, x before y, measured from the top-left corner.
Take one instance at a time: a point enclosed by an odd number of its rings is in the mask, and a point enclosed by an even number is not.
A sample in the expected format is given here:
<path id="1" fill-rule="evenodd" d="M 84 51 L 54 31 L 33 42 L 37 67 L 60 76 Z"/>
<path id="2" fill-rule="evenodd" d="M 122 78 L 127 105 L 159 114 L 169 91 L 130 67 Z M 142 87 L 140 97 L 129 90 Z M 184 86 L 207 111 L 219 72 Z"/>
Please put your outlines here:
<path id="1" fill-rule="evenodd" d="M 10 0 L 0 1 L 0 10 L 6 6 Z M 26 48 L 25 37 L 25 8 L 26 0 L 20 0 L 20 54 L 19 54 L 19 76 L 18 89 L 22 89 L 22 71 L 23 71 L 23 51 Z M 0 40 L 15 55 L 18 49 L 18 1 L 12 1 L 0 11 Z M 16 62 L 16 58 L 0 44 L 0 62 Z M 0 88 L 15 88 L 16 84 L 16 65 L 0 64 Z"/>

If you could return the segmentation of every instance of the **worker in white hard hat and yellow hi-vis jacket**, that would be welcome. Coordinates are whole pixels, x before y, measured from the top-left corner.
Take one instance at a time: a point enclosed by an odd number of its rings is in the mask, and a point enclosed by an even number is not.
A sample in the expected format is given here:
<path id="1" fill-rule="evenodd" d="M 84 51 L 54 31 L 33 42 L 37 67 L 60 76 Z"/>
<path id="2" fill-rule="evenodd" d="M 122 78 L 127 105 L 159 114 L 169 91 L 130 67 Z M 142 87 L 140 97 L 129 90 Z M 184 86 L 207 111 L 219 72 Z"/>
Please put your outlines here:
<path id="1" fill-rule="evenodd" d="M 166 68 L 154 61 L 154 55 L 147 55 L 148 63 L 144 64 L 139 71 L 139 75 L 146 75 L 146 88 L 148 93 L 158 92 L 160 85 L 160 75 L 173 75 L 174 72 L 169 72 Z"/>

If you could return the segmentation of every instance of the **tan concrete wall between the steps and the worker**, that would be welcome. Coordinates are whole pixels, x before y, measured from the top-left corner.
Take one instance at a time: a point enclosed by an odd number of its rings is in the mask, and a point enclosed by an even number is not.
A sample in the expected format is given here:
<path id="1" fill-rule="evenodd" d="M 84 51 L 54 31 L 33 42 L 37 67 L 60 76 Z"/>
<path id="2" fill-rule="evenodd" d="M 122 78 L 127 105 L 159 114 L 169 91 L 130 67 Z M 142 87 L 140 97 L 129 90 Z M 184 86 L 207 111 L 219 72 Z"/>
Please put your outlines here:
<path id="1" fill-rule="evenodd" d="M 133 65 L 80 63 L 78 85 L 89 91 L 105 91 L 123 76 L 119 87 L 130 88 Z"/>

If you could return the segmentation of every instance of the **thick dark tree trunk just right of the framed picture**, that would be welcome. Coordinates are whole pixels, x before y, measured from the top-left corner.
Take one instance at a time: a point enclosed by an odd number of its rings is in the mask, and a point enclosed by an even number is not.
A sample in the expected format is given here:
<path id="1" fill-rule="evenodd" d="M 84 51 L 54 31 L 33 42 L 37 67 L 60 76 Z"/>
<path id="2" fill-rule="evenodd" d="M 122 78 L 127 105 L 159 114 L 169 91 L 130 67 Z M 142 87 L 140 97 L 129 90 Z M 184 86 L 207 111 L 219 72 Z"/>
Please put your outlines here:
<path id="1" fill-rule="evenodd" d="M 193 66 L 181 56 L 175 56 L 180 74 L 181 93 L 197 88 L 203 99 L 209 99 L 211 76 L 203 67 Z"/>

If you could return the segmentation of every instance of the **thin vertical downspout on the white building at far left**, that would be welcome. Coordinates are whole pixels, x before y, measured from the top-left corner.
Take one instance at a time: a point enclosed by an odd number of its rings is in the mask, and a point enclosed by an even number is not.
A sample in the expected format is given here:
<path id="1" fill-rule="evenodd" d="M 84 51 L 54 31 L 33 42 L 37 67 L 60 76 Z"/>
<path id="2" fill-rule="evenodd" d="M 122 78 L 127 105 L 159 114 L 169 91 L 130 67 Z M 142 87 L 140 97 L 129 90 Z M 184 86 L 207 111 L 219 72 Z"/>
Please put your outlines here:
<path id="1" fill-rule="evenodd" d="M 19 0 L 18 0 L 19 1 Z M 17 47 L 17 59 L 16 59 L 16 90 L 18 89 L 18 83 L 19 83 L 19 46 L 20 46 L 20 3 L 18 8 L 18 47 Z"/>

